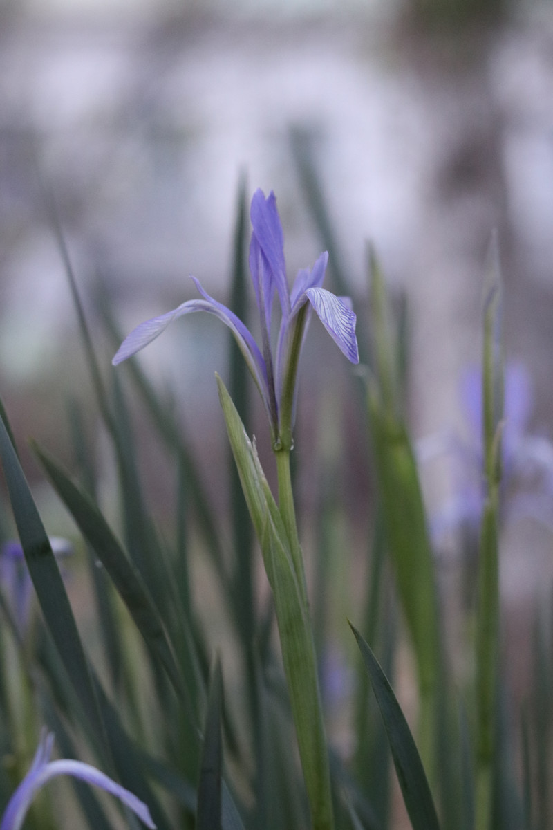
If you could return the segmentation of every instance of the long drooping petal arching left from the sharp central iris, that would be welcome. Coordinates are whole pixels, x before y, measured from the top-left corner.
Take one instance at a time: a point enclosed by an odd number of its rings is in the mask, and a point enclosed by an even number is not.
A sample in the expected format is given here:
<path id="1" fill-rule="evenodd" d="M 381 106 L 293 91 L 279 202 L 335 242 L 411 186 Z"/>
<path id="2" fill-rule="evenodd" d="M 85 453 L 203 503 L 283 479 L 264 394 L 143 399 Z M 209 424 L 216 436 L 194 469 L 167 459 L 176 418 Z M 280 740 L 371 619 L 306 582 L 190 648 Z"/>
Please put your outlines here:
<path id="1" fill-rule="evenodd" d="M 132 357 L 133 354 L 137 354 L 137 352 L 143 349 L 144 346 L 147 346 L 154 339 L 159 337 L 159 335 L 167 329 L 167 326 L 170 325 L 173 320 L 177 320 L 178 317 L 192 314 L 196 311 L 205 311 L 207 314 L 215 315 L 219 320 L 221 320 L 221 322 L 228 326 L 232 334 L 234 334 L 236 343 L 238 344 L 241 353 L 244 355 L 245 362 L 250 369 L 250 372 L 255 380 L 255 384 L 260 390 L 265 407 L 269 411 L 267 370 L 263 355 L 260 352 L 259 346 L 255 343 L 255 339 L 252 337 L 250 331 L 246 328 L 244 323 L 235 315 L 233 311 L 228 309 L 226 305 L 218 303 L 213 299 L 213 297 L 207 294 L 207 292 L 201 287 L 199 281 L 196 280 L 196 277 L 192 277 L 192 280 L 204 299 L 187 300 L 187 302 L 182 303 L 182 305 L 178 305 L 176 309 L 167 311 L 167 314 L 160 315 L 159 317 L 153 317 L 152 320 L 146 320 L 146 322 L 138 325 L 119 346 L 114 359 L 111 361 L 112 364 L 116 366 L 117 364 L 122 363 L 123 360 Z"/>

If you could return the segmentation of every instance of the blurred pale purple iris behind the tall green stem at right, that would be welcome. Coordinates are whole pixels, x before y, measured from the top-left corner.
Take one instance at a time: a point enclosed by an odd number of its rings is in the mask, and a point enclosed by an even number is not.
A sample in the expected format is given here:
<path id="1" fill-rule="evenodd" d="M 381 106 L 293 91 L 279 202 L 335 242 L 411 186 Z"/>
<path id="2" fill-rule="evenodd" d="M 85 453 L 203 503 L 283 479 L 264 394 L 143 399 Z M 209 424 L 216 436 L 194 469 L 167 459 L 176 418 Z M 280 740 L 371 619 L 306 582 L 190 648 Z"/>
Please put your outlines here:
<path id="1" fill-rule="evenodd" d="M 465 527 L 478 533 L 486 500 L 483 477 L 482 371 L 463 375 L 461 401 L 469 437 L 463 442 L 451 433 L 421 442 L 419 457 L 429 460 L 447 452 L 454 460 L 454 496 L 431 521 L 434 538 Z M 553 506 L 553 444 L 529 432 L 533 410 L 531 379 L 521 364 L 505 372 L 502 424 L 502 515 L 509 520 L 533 517 L 551 526 Z"/>

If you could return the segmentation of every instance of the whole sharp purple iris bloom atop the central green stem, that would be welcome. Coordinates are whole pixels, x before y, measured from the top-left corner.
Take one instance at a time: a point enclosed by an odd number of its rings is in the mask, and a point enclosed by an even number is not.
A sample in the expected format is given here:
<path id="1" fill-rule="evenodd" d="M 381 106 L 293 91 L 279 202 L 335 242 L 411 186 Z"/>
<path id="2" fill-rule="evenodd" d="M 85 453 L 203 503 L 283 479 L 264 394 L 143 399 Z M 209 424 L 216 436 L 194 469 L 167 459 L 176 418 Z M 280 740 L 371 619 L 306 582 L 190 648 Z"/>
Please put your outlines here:
<path id="1" fill-rule="evenodd" d="M 318 257 L 313 268 L 303 269 L 289 291 L 284 265 L 284 238 L 274 193 L 265 198 L 256 190 L 251 200 L 250 271 L 255 300 L 260 314 L 261 338 L 258 345 L 239 318 L 203 290 L 192 277 L 202 300 L 188 300 L 176 309 L 138 325 L 124 339 L 112 363 L 121 363 L 158 337 L 167 325 L 193 311 L 216 315 L 234 334 L 269 416 L 274 446 L 291 442 L 295 404 L 295 380 L 299 349 L 311 310 L 318 315 L 338 348 L 353 364 L 359 363 L 355 334 L 356 315 L 351 300 L 337 297 L 322 287 L 328 254 Z M 278 295 L 281 320 L 273 331 L 273 303 Z"/>

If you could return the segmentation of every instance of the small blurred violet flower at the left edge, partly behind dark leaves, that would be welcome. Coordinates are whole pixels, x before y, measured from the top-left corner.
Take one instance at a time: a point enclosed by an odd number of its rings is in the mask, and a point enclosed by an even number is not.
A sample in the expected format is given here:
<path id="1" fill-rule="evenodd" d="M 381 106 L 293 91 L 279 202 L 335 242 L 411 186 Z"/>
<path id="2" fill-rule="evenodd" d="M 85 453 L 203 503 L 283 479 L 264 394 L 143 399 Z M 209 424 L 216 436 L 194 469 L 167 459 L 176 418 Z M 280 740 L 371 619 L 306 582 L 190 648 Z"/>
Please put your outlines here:
<path id="1" fill-rule="evenodd" d="M 66 539 L 50 537 L 51 548 L 56 558 L 72 553 Z M 0 588 L 9 603 L 13 618 L 21 634 L 27 630 L 32 597 L 32 581 L 21 544 L 9 540 L 0 547 Z"/>

